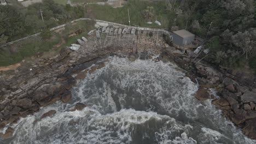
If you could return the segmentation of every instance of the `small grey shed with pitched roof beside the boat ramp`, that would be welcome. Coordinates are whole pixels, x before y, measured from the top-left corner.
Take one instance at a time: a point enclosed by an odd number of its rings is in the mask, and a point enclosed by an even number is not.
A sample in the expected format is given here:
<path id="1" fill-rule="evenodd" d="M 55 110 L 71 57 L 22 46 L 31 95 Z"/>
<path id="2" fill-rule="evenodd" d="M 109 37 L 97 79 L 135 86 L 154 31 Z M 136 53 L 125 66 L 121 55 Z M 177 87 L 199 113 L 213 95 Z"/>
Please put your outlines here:
<path id="1" fill-rule="evenodd" d="M 195 34 L 186 31 L 185 29 L 173 32 L 173 44 L 184 46 L 190 44 L 195 39 Z"/>

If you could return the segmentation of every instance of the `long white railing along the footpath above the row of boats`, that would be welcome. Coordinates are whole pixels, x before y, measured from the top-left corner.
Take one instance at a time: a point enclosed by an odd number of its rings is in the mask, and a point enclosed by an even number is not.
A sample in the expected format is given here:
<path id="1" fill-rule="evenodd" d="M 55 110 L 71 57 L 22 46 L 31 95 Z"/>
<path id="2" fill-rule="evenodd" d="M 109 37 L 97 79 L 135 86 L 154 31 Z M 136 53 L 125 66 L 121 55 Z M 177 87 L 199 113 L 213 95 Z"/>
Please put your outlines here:
<path id="1" fill-rule="evenodd" d="M 90 18 L 80 18 L 80 19 L 77 19 L 77 20 L 73 20 L 71 21 L 71 23 L 73 22 L 77 22 L 77 21 L 80 21 L 80 20 L 92 20 Z M 120 26 L 120 27 L 130 27 L 128 25 L 123 25 L 123 24 L 120 24 L 120 23 L 115 23 L 115 22 L 109 22 L 109 21 L 103 21 L 103 20 L 95 20 L 96 22 L 105 22 L 105 23 L 109 23 L 111 25 L 117 25 L 117 26 Z M 67 24 L 63 24 L 63 25 L 60 25 L 60 26 L 57 26 L 57 27 L 54 27 L 54 28 L 50 28 L 50 31 L 54 31 L 55 29 L 59 29 L 59 28 L 62 28 L 62 27 L 65 27 Z M 133 27 L 133 26 L 131 26 Z M 165 34 L 171 34 L 171 32 L 168 32 L 166 31 L 165 29 L 156 29 L 156 28 L 146 28 L 146 27 L 133 27 L 133 28 L 136 28 L 136 29 L 140 29 L 140 30 L 146 30 L 146 31 L 162 31 L 164 32 Z M 25 38 L 21 38 L 21 39 L 18 39 L 18 40 L 14 40 L 14 41 L 11 41 L 9 43 L 5 43 L 3 45 L 1 45 L 0 47 L 4 47 L 4 46 L 8 46 L 8 45 L 11 45 L 15 42 L 18 42 L 18 41 L 21 41 L 21 40 L 25 40 L 25 39 L 28 39 L 28 38 L 31 38 L 31 37 L 37 37 L 38 35 L 40 35 L 40 33 L 36 33 L 36 34 L 33 34 L 33 35 L 30 35 L 28 37 L 25 37 Z"/>

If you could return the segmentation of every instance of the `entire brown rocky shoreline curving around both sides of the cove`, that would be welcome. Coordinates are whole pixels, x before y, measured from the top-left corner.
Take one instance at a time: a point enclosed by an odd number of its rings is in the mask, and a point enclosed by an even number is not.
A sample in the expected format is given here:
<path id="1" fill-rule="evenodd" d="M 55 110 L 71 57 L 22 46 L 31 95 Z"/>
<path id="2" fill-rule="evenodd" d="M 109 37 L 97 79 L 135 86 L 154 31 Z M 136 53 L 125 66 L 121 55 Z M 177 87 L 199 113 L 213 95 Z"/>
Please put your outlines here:
<path id="1" fill-rule="evenodd" d="M 5 128 L 5 134 L 0 136 L 8 139 L 14 133 L 9 127 L 15 124 L 20 117 L 38 112 L 41 106 L 53 104 L 58 100 L 67 103 L 72 94 L 69 89 L 88 73 L 104 67 L 104 61 L 111 55 L 129 56 L 130 61 L 135 61 L 138 55 L 131 54 L 131 50 L 121 47 L 107 47 L 95 51 L 94 55 L 86 57 L 62 49 L 53 58 L 38 58 L 32 70 L 21 67 L 14 74 L 4 74 L 0 77 L 0 130 Z M 140 59 L 148 59 L 150 55 L 141 53 Z M 195 97 L 199 100 L 213 99 L 212 104 L 223 111 L 243 133 L 251 139 L 256 139 L 256 85 L 252 82 L 236 80 L 237 76 L 226 73 L 207 63 L 194 64 L 190 59 L 180 53 L 173 53 L 169 49 L 162 49 L 159 60 L 175 62 L 187 71 L 187 76 L 199 84 L 199 91 Z M 75 75 L 73 77 L 72 75 Z M 248 85 L 247 85 L 248 84 Z M 219 98 L 209 94 L 209 89 L 215 88 Z M 77 104 L 73 110 L 82 110 L 85 104 Z M 56 111 L 46 112 L 42 118 L 51 116 Z"/>

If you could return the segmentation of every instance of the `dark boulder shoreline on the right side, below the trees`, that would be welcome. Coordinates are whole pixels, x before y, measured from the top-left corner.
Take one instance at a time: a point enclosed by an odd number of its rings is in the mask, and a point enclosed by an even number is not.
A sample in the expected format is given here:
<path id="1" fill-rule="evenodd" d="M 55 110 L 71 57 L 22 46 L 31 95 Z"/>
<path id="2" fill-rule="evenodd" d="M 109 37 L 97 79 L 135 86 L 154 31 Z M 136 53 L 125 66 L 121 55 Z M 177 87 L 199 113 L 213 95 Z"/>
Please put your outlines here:
<path id="1" fill-rule="evenodd" d="M 162 61 L 174 61 L 187 70 L 187 76 L 198 83 L 199 90 L 195 97 L 199 100 L 212 99 L 212 104 L 221 109 L 223 115 L 230 119 L 243 133 L 256 140 L 256 85 L 254 75 L 234 75 L 228 70 L 217 69 L 201 62 L 194 64 L 184 55 L 177 55 L 164 50 Z M 210 95 L 210 89 L 217 91 L 218 98 Z"/>

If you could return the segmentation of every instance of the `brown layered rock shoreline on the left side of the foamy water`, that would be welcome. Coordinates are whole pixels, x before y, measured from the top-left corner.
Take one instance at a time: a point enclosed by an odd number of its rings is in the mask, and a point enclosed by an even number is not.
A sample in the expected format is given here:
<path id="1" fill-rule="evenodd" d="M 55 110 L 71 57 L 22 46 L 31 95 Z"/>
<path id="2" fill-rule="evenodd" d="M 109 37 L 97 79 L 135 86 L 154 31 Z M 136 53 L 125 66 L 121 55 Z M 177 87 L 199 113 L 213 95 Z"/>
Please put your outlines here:
<path id="1" fill-rule="evenodd" d="M 87 72 L 93 73 L 104 67 L 104 62 L 98 62 L 100 59 L 117 53 L 128 55 L 130 51 L 121 47 L 106 47 L 104 50 L 95 51 L 94 55 L 84 57 L 62 49 L 55 57 L 38 58 L 34 60 L 36 64 L 30 67 L 24 64 L 13 73 L 2 74 L 0 130 L 7 129 L 4 134 L 0 133 L 0 137 L 8 139 L 13 136 L 14 129 L 9 126 L 17 123 L 21 117 L 38 112 L 41 106 L 59 100 L 67 103 L 72 97 L 69 90 L 77 80 L 84 79 Z M 74 107 L 75 109 L 81 109 L 81 104 Z M 49 111 L 42 118 L 55 112 Z"/>

